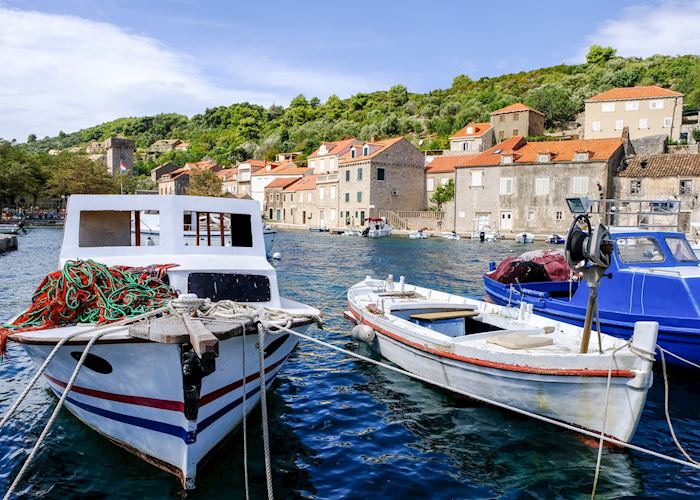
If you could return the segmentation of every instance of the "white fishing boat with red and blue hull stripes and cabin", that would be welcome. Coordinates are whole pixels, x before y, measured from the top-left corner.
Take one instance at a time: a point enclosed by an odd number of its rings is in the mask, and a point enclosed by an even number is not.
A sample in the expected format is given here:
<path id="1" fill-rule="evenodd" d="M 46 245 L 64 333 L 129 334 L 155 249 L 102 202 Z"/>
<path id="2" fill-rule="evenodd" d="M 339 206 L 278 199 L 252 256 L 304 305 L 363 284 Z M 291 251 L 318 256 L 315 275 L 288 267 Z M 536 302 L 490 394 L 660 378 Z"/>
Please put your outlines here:
<path id="1" fill-rule="evenodd" d="M 154 245 L 146 245 L 141 237 L 140 214 L 147 211 L 159 217 Z M 226 214 L 233 230 L 216 235 L 205 230 L 203 240 L 188 244 L 183 220 L 213 213 Z M 295 331 L 306 330 L 319 314 L 280 296 L 275 269 L 265 257 L 259 205 L 251 200 L 73 195 L 60 263 L 69 266 L 86 259 L 110 269 L 164 266 L 163 281 L 182 293 L 176 301 L 206 298 L 212 304 L 235 301 L 253 311 L 265 308 L 266 314 L 287 317 Z M 258 328 L 252 317 L 204 323 L 166 315 L 115 326 L 96 340 L 94 325 L 78 323 L 19 331 L 9 340 L 21 344 L 41 365 L 56 344 L 68 338 L 44 372 L 57 396 L 86 344 L 95 340 L 65 406 L 90 428 L 177 475 L 183 487 L 191 489 L 206 457 L 241 424 L 243 391 L 245 413 L 260 400 Z M 265 337 L 267 387 L 296 344 L 293 335 Z"/>

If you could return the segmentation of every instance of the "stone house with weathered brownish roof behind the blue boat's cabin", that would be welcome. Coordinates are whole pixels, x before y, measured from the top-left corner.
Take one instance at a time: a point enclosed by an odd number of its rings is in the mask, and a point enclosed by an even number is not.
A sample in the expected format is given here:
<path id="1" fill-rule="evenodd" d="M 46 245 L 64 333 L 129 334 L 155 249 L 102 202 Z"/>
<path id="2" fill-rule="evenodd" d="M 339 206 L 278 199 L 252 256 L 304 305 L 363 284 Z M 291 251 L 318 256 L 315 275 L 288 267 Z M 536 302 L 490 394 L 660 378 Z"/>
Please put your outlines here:
<path id="1" fill-rule="evenodd" d="M 623 200 L 680 200 L 681 231 L 698 235 L 700 227 L 700 155 L 633 156 L 615 177 L 615 198 Z"/>

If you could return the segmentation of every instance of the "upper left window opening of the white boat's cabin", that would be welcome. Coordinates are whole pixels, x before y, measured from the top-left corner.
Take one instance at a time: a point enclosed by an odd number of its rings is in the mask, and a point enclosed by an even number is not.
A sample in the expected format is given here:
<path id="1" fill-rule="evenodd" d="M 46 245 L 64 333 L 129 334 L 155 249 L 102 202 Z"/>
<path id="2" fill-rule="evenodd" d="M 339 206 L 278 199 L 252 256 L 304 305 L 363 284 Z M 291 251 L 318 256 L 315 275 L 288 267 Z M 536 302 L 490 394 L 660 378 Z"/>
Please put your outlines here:
<path id="1" fill-rule="evenodd" d="M 83 210 L 78 244 L 82 248 L 133 247 L 158 244 L 157 210 Z"/>

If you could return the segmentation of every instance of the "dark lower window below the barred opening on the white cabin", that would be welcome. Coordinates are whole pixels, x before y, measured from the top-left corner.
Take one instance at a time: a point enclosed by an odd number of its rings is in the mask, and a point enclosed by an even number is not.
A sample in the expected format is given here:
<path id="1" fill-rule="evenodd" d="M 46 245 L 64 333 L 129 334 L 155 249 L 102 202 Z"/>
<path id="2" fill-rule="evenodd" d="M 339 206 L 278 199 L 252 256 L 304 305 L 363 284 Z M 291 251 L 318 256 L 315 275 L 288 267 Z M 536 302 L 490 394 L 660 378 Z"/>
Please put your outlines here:
<path id="1" fill-rule="evenodd" d="M 191 273 L 187 290 L 197 297 L 236 302 L 268 302 L 270 280 L 257 274 Z"/>

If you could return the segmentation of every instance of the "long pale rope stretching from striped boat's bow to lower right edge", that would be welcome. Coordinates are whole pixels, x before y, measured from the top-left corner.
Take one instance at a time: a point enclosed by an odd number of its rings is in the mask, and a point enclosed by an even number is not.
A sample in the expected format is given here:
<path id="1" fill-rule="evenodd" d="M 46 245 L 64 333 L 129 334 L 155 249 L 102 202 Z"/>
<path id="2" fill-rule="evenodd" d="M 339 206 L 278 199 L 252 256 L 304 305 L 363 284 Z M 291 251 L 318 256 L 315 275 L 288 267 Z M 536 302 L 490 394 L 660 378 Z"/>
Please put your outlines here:
<path id="1" fill-rule="evenodd" d="M 570 431 L 574 431 L 574 432 L 577 432 L 577 433 L 579 433 L 579 434 L 583 434 L 583 435 L 588 436 L 588 437 L 592 437 L 592 438 L 596 438 L 596 439 L 599 439 L 599 438 L 601 437 L 600 434 L 598 434 L 597 432 L 592 432 L 592 431 L 589 431 L 589 430 L 586 430 L 586 429 L 582 429 L 582 428 L 580 428 L 580 427 L 575 427 L 575 426 L 570 425 L 570 424 L 567 424 L 567 423 L 565 423 L 565 422 L 560 422 L 559 420 L 554 420 L 554 419 L 552 419 L 552 418 L 545 417 L 545 416 L 543 416 L 543 415 L 538 415 L 537 413 L 532 413 L 532 412 L 527 411 L 527 410 L 522 410 L 522 409 L 520 409 L 520 408 L 516 408 L 516 407 L 514 407 L 514 406 L 510 406 L 510 405 L 507 405 L 507 404 L 505 404 L 505 403 L 501 403 L 501 402 L 499 402 L 499 401 L 494 401 L 494 400 L 491 400 L 491 399 L 488 399 L 488 398 L 484 398 L 483 396 L 478 396 L 478 395 L 476 395 L 476 394 L 472 394 L 472 393 L 469 393 L 469 392 L 466 392 L 466 391 L 462 391 L 462 390 L 457 389 L 457 388 L 455 388 L 455 387 L 451 387 L 451 386 L 448 386 L 448 385 L 446 385 L 446 384 L 442 384 L 442 383 L 440 383 L 440 382 L 436 382 L 436 381 L 434 381 L 434 380 L 431 380 L 431 379 L 429 379 L 429 378 L 423 377 L 423 376 L 421 376 L 421 375 L 417 375 L 417 374 L 415 374 L 415 373 L 408 372 L 408 371 L 406 371 L 406 370 L 404 370 L 404 369 L 402 369 L 402 368 L 398 368 L 398 367 L 395 367 L 395 366 L 387 365 L 387 364 L 385 364 L 385 363 L 382 363 L 381 361 L 377 361 L 377 360 L 368 358 L 368 357 L 366 357 L 366 356 L 363 356 L 363 355 L 361 355 L 361 354 L 357 354 L 357 353 L 355 353 L 355 352 L 348 351 L 347 349 L 343 349 L 342 347 L 338 347 L 338 346 L 335 346 L 335 345 L 333 345 L 333 344 L 329 344 L 328 342 L 324 342 L 323 340 L 319 340 L 319 339 L 316 339 L 316 338 L 314 338 L 314 337 L 310 337 L 310 336 L 305 335 L 305 334 L 300 333 L 300 332 L 295 332 L 294 330 L 290 330 L 289 328 L 286 328 L 286 327 L 283 327 L 283 326 L 279 326 L 279 325 L 275 325 L 275 324 L 270 324 L 269 327 L 270 327 L 270 330 L 269 330 L 270 333 L 276 333 L 277 330 L 279 330 L 279 331 L 284 331 L 284 332 L 290 333 L 290 334 L 292 334 L 292 335 L 296 335 L 297 337 L 299 337 L 299 338 L 301 338 L 301 339 L 308 340 L 309 342 L 314 342 L 314 343 L 316 343 L 316 344 L 318 344 L 318 345 L 327 347 L 327 348 L 332 349 L 332 350 L 334 350 L 334 351 L 337 351 L 337 352 L 340 352 L 340 353 L 342 353 L 342 354 L 346 354 L 346 355 L 351 356 L 351 357 L 353 357 L 353 358 L 359 359 L 360 361 L 365 361 L 365 362 L 367 362 L 367 363 L 370 363 L 370 364 L 379 366 L 379 367 L 381 367 L 381 368 L 385 368 L 385 369 L 387 369 L 387 370 L 391 370 L 391 371 L 393 371 L 393 372 L 400 373 L 400 374 L 405 375 L 405 376 L 407 376 L 407 377 L 414 378 L 414 379 L 416 379 L 416 380 L 420 380 L 420 381 L 425 382 L 425 383 L 427 383 L 427 384 L 431 384 L 431 385 L 434 385 L 434 386 L 436 386 L 436 387 L 440 387 L 441 389 L 445 389 L 445 390 L 448 390 L 448 391 L 451 391 L 451 392 L 455 392 L 455 393 L 457 393 L 457 394 L 461 394 L 461 395 L 463 395 L 463 396 L 472 398 L 472 399 L 474 399 L 474 400 L 476 400 L 476 401 L 481 401 L 482 403 L 488 403 L 488 404 L 491 404 L 491 405 L 493 405 L 493 406 L 497 406 L 497 407 L 499 407 L 499 408 L 503 408 L 503 409 L 505 409 L 505 410 L 510 410 L 510 411 L 515 412 L 515 413 L 519 413 L 519 414 L 521 414 L 521 415 L 524 415 L 524 416 L 526 416 L 526 417 L 531 417 L 531 418 L 540 420 L 540 421 L 542 421 L 542 422 L 546 422 L 546 423 L 549 423 L 549 424 L 552 424 L 552 425 L 556 425 L 556 426 L 561 427 L 561 428 L 563 428 L 563 429 L 567 429 L 567 430 L 570 430 Z M 611 443 L 611 444 L 614 444 L 614 445 L 617 445 L 617 446 L 620 446 L 620 447 L 623 447 L 623 448 L 629 448 L 630 450 L 638 451 L 638 452 L 640 452 L 640 453 L 644 453 L 644 454 L 650 455 L 650 456 L 652 456 L 652 457 L 660 458 L 660 459 L 662 459 L 662 460 L 667 460 L 667 461 L 669 461 L 669 462 L 673 462 L 673 463 L 676 463 L 676 464 L 679 464 L 679 465 L 685 465 L 685 466 L 687 466 L 687 467 L 691 467 L 691 468 L 693 468 L 693 469 L 700 470 L 700 464 L 695 464 L 695 463 L 693 463 L 693 462 L 689 462 L 689 461 L 686 461 L 686 460 L 681 460 L 680 458 L 672 457 L 672 456 L 670 456 L 670 455 L 665 455 L 665 454 L 663 454 L 663 453 L 659 453 L 659 452 L 657 452 L 657 451 L 650 450 L 650 449 L 648 449 L 648 448 L 643 448 L 643 447 L 641 447 L 641 446 L 637 446 L 637 445 L 634 445 L 634 444 L 632 444 L 632 443 L 626 443 L 625 441 L 620 441 L 619 439 L 611 438 L 611 437 L 608 437 L 608 436 L 605 436 L 603 439 L 604 439 L 604 441 L 605 441 L 606 443 Z"/>

